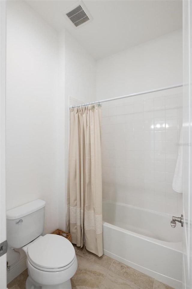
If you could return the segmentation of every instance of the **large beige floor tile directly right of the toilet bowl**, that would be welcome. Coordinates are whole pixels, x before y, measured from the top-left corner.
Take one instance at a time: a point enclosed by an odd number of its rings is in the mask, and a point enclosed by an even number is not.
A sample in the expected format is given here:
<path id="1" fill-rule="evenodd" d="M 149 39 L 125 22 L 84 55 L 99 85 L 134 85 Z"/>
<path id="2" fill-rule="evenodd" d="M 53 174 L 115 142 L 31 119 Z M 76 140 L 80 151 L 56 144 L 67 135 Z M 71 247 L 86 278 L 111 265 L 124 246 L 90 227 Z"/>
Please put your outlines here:
<path id="1" fill-rule="evenodd" d="M 72 289 L 98 289 L 108 271 L 79 255 L 77 262 L 77 272 L 71 278 Z"/>

